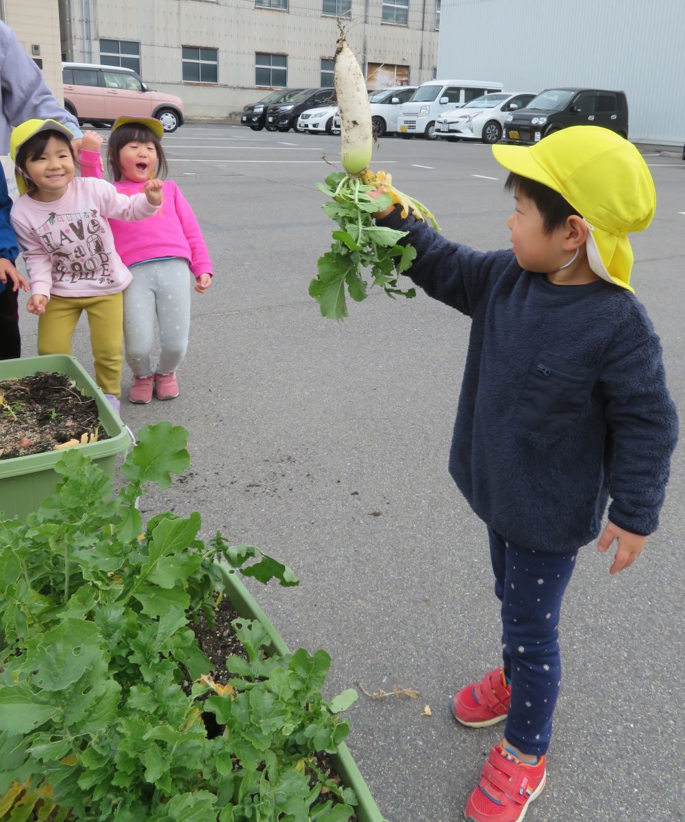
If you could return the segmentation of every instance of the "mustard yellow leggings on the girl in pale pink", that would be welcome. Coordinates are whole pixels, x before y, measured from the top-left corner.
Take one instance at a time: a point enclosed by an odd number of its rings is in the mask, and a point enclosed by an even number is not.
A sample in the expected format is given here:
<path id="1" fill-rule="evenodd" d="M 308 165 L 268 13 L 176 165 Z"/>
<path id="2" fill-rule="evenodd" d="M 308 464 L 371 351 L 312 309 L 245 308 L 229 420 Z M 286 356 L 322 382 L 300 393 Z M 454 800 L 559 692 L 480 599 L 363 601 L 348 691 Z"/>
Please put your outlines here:
<path id="1" fill-rule="evenodd" d="M 123 293 L 104 297 L 55 297 L 38 318 L 38 353 L 71 354 L 81 312 L 88 315 L 95 382 L 105 394 L 121 395 L 123 363 Z"/>

